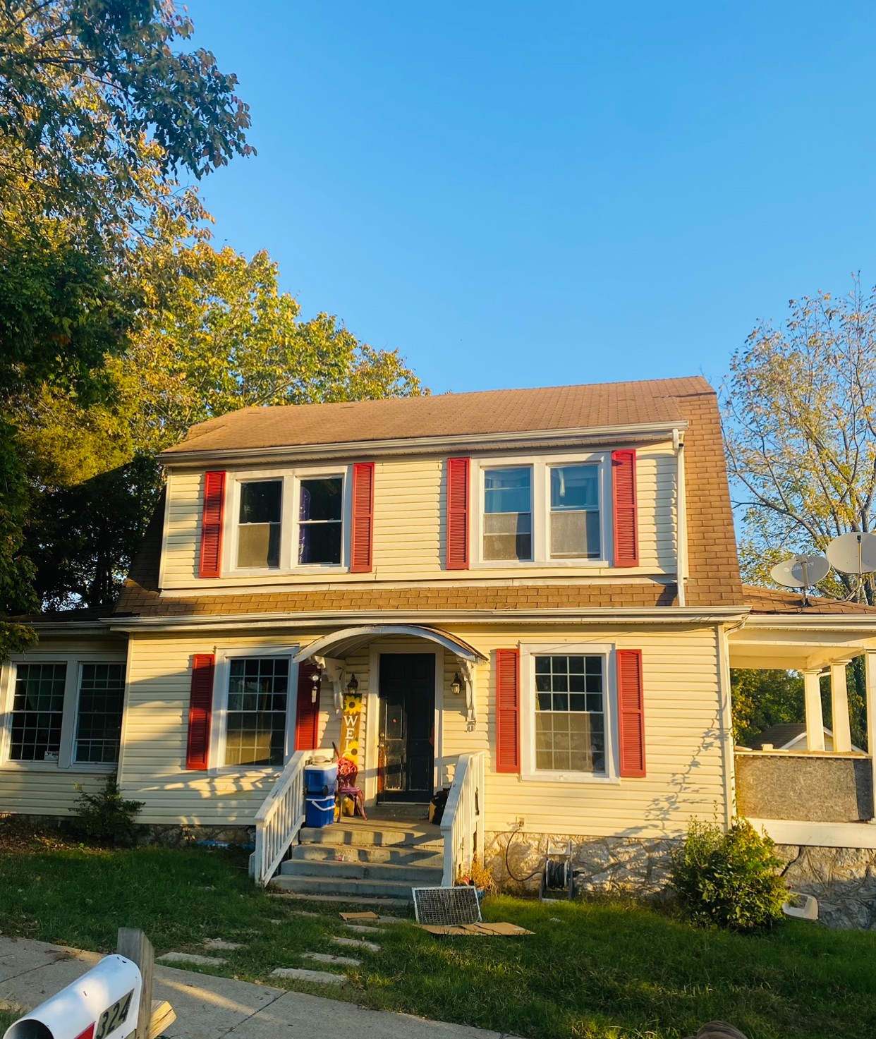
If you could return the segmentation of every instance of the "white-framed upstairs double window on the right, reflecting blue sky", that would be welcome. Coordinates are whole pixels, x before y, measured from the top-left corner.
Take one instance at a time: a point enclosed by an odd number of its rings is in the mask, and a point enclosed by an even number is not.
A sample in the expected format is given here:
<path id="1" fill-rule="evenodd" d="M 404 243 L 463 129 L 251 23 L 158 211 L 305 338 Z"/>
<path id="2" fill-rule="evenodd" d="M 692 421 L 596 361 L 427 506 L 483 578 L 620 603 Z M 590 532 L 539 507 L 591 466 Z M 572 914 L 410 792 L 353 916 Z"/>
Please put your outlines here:
<path id="1" fill-rule="evenodd" d="M 473 567 L 608 566 L 609 455 L 473 459 Z"/>

